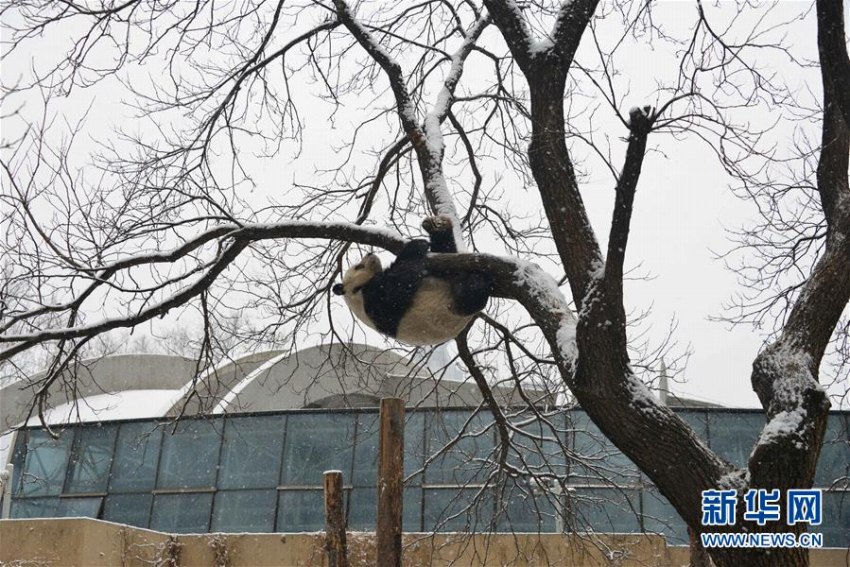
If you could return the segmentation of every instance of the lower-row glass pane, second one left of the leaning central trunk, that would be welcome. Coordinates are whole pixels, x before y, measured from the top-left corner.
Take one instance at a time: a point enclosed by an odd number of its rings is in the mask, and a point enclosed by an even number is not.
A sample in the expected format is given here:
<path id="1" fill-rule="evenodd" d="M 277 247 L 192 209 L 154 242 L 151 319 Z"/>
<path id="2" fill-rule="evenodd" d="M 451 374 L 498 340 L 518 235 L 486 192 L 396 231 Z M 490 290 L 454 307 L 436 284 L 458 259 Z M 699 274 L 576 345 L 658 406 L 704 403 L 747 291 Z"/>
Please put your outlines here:
<path id="1" fill-rule="evenodd" d="M 639 492 L 615 488 L 578 488 L 568 505 L 575 529 L 602 533 L 640 532 Z"/>

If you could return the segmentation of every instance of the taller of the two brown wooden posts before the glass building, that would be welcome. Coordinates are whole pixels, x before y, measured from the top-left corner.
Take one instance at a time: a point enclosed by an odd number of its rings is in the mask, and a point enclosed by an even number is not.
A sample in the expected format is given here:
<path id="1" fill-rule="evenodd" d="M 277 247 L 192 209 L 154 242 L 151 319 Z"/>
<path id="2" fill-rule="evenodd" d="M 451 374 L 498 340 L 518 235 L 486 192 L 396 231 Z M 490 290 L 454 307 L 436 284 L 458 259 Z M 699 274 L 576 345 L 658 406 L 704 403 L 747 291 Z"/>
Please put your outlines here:
<path id="1" fill-rule="evenodd" d="M 378 444 L 378 565 L 401 567 L 404 400 L 381 400 Z"/>

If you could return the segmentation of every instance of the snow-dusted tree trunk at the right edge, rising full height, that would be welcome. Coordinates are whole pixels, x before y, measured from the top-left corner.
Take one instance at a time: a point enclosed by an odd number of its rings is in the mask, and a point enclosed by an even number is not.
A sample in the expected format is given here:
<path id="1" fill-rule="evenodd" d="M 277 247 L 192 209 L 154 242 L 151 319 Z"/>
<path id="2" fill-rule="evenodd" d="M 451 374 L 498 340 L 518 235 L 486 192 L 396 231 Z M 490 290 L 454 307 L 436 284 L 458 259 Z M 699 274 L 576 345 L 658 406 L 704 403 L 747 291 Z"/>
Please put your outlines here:
<path id="1" fill-rule="evenodd" d="M 823 443 L 829 400 L 818 370 L 850 301 L 850 60 L 841 2 L 818 0 L 818 51 L 823 80 L 823 129 L 817 187 L 827 222 L 824 252 L 797 298 L 779 337 L 753 363 L 752 386 L 767 424 L 747 465 L 751 488 L 809 488 Z M 741 522 L 749 531 L 769 531 Z M 740 525 L 740 524 L 739 524 Z M 801 532 L 805 524 L 788 527 Z M 808 565 L 801 549 L 712 551 L 718 565 Z"/>

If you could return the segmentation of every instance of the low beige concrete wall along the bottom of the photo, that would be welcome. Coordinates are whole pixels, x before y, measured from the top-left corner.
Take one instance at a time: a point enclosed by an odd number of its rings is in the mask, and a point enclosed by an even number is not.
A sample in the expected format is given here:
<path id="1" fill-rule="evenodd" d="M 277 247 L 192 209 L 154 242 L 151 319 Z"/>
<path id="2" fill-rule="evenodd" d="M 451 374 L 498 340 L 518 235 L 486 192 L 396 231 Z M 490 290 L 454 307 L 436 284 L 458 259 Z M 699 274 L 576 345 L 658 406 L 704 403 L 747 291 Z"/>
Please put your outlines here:
<path id="1" fill-rule="evenodd" d="M 87 518 L 0 521 L 0 565 L 8 567 L 319 567 L 322 534 L 172 536 Z M 348 536 L 352 567 L 376 565 L 374 536 Z M 405 534 L 410 566 L 678 567 L 688 550 L 660 536 L 599 534 Z M 845 549 L 813 550 L 812 567 L 848 565 Z"/>

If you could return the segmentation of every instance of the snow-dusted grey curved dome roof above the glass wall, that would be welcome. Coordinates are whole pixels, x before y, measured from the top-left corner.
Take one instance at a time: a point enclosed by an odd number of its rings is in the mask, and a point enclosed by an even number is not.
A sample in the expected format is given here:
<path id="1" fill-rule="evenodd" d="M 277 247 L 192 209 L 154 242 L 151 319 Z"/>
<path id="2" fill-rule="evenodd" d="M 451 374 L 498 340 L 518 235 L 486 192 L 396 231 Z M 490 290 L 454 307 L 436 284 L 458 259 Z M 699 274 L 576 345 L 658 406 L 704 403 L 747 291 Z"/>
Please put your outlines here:
<path id="1" fill-rule="evenodd" d="M 51 424 L 298 408 L 375 407 L 383 397 L 409 406 L 469 406 L 480 400 L 471 381 L 436 377 L 424 361 L 364 344 L 331 344 L 296 352 L 228 358 L 196 374 L 196 362 L 162 354 L 120 354 L 79 363 L 75 387 L 49 389 Z M 31 414 L 32 379 L 0 387 L 0 431 Z M 494 388 L 506 404 L 521 400 Z"/>

